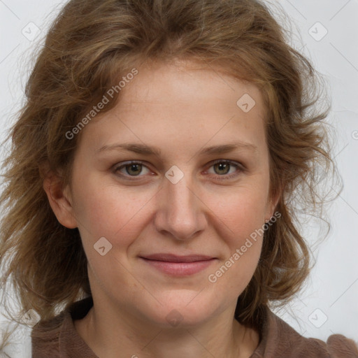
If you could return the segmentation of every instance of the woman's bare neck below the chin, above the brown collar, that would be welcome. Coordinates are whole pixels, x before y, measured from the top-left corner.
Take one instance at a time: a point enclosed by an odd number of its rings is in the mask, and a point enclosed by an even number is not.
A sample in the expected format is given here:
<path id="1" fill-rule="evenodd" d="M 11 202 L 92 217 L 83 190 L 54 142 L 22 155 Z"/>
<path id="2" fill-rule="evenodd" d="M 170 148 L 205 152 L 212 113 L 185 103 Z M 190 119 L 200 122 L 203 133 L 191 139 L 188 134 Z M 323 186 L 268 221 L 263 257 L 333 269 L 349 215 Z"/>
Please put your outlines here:
<path id="1" fill-rule="evenodd" d="M 75 321 L 75 327 L 100 358 L 248 358 L 259 344 L 259 335 L 233 316 L 228 311 L 200 324 L 163 328 L 126 310 L 99 311 L 94 306 L 83 320 Z"/>

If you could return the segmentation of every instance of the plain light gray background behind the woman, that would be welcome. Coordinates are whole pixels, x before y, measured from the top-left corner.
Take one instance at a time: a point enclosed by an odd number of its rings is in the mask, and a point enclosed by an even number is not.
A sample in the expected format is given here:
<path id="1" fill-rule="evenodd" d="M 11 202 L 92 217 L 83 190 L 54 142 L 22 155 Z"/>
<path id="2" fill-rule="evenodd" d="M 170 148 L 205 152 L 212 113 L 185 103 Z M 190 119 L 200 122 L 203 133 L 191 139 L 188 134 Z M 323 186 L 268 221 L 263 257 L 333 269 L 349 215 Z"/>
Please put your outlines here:
<path id="1" fill-rule="evenodd" d="M 340 333 L 358 341 L 358 0 L 271 2 L 289 14 L 294 46 L 310 57 L 329 83 L 329 120 L 338 138 L 334 151 L 344 182 L 329 210 L 332 227 L 325 241 L 315 244 L 319 222 L 305 227 L 317 257 L 306 289 L 277 313 L 303 336 L 326 341 L 330 334 Z M 0 0 L 0 139 L 21 106 L 29 55 L 62 3 Z M 0 147 L 1 158 L 7 150 Z M 29 339 L 19 337 L 20 345 L 8 350 L 10 356 L 30 357 Z"/>

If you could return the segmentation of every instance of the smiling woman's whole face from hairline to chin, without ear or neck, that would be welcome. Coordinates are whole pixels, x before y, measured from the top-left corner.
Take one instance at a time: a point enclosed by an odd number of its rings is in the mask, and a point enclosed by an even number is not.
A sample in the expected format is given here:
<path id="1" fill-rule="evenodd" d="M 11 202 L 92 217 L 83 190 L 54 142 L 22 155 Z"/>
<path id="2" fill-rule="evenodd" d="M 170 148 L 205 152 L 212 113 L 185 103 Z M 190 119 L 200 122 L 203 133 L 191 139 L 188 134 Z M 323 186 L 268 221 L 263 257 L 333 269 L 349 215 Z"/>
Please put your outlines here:
<path id="1" fill-rule="evenodd" d="M 65 191 L 94 299 L 161 325 L 233 312 L 276 203 L 264 115 L 255 86 L 210 68 L 138 68 L 83 129 Z"/>

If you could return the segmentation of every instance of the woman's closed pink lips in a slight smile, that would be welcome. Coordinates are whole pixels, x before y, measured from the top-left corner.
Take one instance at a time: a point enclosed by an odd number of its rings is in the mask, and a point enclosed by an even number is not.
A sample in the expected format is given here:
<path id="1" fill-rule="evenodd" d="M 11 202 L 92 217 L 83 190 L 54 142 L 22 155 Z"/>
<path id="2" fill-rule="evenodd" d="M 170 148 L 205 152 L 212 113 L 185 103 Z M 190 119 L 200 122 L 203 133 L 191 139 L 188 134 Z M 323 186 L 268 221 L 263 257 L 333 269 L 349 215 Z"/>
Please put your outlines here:
<path id="1" fill-rule="evenodd" d="M 171 276 L 187 276 L 208 268 L 217 259 L 206 255 L 154 254 L 141 256 L 145 264 Z"/>

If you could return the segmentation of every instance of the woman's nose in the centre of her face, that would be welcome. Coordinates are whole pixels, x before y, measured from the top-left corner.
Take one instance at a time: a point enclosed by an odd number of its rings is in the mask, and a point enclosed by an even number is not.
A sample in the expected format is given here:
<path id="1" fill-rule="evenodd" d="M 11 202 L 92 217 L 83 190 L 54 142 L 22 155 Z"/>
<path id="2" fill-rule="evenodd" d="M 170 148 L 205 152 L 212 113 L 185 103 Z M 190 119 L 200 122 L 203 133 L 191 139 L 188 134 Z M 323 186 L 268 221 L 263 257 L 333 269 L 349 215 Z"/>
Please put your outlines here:
<path id="1" fill-rule="evenodd" d="M 155 228 L 161 234 L 185 241 L 202 232 L 208 224 L 207 207 L 200 199 L 197 185 L 185 175 L 173 184 L 164 178 L 157 194 Z"/>

